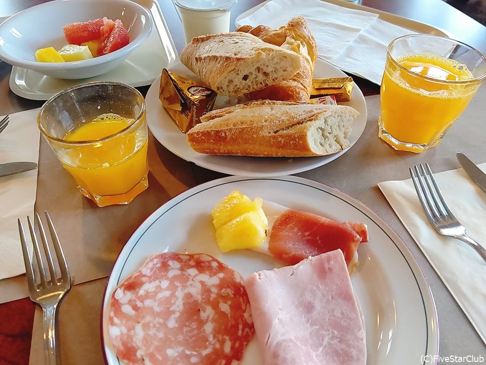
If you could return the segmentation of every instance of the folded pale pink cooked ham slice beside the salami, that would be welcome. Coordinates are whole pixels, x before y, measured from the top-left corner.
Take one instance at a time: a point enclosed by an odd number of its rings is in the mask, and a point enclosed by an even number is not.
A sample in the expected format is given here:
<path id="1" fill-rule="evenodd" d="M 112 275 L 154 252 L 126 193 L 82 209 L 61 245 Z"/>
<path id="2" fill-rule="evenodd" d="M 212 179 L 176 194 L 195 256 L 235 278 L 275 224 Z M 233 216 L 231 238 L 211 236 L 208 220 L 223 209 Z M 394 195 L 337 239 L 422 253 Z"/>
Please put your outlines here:
<path id="1" fill-rule="evenodd" d="M 365 327 L 335 250 L 245 282 L 265 365 L 365 365 Z"/>

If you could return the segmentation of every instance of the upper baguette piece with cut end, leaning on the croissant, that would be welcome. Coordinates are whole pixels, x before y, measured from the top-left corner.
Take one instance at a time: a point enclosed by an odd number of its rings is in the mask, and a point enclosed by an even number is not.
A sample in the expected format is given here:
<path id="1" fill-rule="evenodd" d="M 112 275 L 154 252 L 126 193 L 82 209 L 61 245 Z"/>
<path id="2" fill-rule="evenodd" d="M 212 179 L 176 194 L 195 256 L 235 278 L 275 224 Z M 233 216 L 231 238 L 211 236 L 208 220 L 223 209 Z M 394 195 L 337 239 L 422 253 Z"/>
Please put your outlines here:
<path id="1" fill-rule="evenodd" d="M 195 37 L 180 61 L 220 95 L 242 96 L 290 79 L 301 58 L 247 33 L 232 32 Z"/>

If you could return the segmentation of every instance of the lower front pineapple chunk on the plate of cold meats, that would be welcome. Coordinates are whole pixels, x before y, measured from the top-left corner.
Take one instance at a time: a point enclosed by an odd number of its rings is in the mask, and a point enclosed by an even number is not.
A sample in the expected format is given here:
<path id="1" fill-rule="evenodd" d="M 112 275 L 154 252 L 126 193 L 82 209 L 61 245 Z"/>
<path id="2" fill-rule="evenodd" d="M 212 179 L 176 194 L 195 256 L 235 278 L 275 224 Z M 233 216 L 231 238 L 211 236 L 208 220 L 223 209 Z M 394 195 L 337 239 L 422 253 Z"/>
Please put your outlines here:
<path id="1" fill-rule="evenodd" d="M 267 239 L 268 220 L 263 209 L 245 213 L 216 230 L 216 242 L 222 252 L 254 248 Z"/>

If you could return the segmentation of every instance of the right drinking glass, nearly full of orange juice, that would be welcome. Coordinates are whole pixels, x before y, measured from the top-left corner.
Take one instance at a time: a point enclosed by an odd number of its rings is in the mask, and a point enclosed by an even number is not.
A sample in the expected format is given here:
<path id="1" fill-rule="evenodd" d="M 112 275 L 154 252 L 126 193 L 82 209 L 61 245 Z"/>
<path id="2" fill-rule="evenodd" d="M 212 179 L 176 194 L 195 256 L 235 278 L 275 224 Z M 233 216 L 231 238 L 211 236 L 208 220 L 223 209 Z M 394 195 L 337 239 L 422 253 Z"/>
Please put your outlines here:
<path id="1" fill-rule="evenodd" d="M 486 77 L 486 59 L 449 38 L 415 34 L 390 43 L 381 82 L 380 138 L 393 148 L 435 146 Z"/>

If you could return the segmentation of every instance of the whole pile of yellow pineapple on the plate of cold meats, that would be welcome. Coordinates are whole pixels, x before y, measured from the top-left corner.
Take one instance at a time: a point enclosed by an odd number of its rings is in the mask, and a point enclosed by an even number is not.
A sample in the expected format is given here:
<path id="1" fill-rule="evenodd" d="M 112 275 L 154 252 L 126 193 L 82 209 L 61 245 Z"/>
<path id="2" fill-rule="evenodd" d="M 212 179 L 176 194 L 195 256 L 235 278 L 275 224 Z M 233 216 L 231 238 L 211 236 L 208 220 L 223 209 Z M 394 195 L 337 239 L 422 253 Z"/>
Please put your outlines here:
<path id="1" fill-rule="evenodd" d="M 263 200 L 252 200 L 238 191 L 231 192 L 211 212 L 216 243 L 222 252 L 260 246 L 269 227 L 262 209 Z"/>

